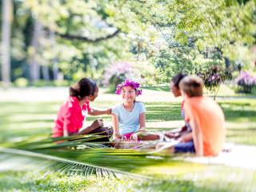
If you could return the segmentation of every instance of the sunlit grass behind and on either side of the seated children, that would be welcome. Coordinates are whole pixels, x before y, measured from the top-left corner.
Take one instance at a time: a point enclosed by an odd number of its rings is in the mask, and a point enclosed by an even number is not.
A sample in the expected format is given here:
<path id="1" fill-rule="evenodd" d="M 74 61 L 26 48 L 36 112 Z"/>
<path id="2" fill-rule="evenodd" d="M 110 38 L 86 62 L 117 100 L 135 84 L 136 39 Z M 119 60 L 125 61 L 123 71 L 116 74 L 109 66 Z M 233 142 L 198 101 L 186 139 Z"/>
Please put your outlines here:
<path id="1" fill-rule="evenodd" d="M 54 126 L 59 102 L 0 102 L 0 141 L 4 142 L 16 137 L 35 134 L 50 134 Z M 232 99 L 219 102 L 226 117 L 227 141 L 256 145 L 256 100 Z M 109 106 L 113 105 L 110 102 Z M 166 122 L 165 127 L 150 126 L 151 130 L 170 130 L 177 128 L 182 121 L 178 102 L 146 102 L 146 122 Z M 97 102 L 97 106 L 105 107 L 106 103 Z M 103 115 L 106 122 L 110 116 Z M 88 124 L 97 117 L 88 117 Z M 182 126 L 182 123 L 180 123 Z M 248 139 L 249 138 L 249 139 Z M 251 139 L 250 139 L 251 138 Z"/>

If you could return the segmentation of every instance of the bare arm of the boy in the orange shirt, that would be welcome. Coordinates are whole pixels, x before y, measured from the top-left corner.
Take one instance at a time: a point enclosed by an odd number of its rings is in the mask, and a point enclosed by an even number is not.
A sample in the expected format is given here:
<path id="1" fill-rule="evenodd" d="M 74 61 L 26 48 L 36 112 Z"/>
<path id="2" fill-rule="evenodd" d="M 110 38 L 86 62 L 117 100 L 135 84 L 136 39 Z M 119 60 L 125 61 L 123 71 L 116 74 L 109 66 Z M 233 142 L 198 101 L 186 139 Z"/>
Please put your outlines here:
<path id="1" fill-rule="evenodd" d="M 200 124 L 197 118 L 193 119 L 191 122 L 192 127 L 192 137 L 194 141 L 195 153 L 198 157 L 203 156 L 203 142 L 202 142 L 202 130 L 200 129 Z"/>

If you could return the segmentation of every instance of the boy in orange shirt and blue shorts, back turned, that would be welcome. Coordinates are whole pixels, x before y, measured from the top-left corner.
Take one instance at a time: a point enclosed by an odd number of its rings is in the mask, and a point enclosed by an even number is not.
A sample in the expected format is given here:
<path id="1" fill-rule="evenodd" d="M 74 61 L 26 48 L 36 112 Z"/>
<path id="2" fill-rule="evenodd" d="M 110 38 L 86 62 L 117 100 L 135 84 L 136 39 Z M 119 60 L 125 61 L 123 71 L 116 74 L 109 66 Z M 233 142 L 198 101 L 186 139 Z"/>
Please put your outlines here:
<path id="1" fill-rule="evenodd" d="M 215 156 L 222 150 L 225 140 L 225 120 L 222 109 L 210 98 L 202 96 L 203 82 L 196 76 L 188 76 L 180 82 L 185 98 L 185 120 L 192 128 L 193 141 L 179 138 L 180 143 L 170 151 L 195 152 L 197 156 Z"/>

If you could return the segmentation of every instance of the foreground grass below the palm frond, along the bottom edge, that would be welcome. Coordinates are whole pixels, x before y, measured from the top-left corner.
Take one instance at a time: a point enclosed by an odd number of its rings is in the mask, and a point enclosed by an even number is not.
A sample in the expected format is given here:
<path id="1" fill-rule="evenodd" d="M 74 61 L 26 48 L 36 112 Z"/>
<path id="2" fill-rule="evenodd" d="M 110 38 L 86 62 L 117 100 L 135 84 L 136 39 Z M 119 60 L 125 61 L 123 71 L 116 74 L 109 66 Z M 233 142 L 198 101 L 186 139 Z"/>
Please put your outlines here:
<path id="1" fill-rule="evenodd" d="M 158 164 L 142 166 L 137 171 L 152 175 L 151 179 L 117 175 L 116 178 L 96 177 L 95 174 L 64 173 L 46 174 L 46 163 L 25 156 L 14 157 L 0 153 L 7 166 L 0 167 L 1 191 L 254 191 L 256 174 L 226 166 L 187 165 L 176 162 L 173 166 Z M 94 157 L 97 158 L 97 157 Z M 18 170 L 12 170 L 15 162 L 22 162 Z M 138 162 L 139 163 L 139 162 Z M 11 164 L 11 167 L 8 165 Z M 125 164 L 125 163 L 123 163 Z M 17 164 L 19 165 L 19 164 Z M 126 165 L 128 166 L 128 165 Z M 41 169 L 40 169 L 41 168 Z M 130 169 L 133 169 L 130 167 Z M 45 171 L 44 171 L 45 170 Z M 161 174 L 161 177 L 158 177 Z M 171 190 L 170 190 L 171 189 Z"/>

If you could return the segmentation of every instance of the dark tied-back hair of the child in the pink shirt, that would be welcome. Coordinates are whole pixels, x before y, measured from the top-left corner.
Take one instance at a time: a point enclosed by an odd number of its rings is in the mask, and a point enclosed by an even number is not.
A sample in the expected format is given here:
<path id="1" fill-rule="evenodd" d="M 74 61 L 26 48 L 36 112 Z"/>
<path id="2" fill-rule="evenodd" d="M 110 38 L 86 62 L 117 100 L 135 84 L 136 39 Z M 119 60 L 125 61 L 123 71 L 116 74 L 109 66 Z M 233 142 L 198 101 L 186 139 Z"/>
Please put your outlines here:
<path id="1" fill-rule="evenodd" d="M 94 80 L 90 78 L 82 78 L 74 86 L 70 86 L 70 96 L 78 98 L 81 100 L 90 94 L 94 94 L 97 84 Z"/>

